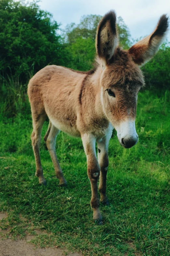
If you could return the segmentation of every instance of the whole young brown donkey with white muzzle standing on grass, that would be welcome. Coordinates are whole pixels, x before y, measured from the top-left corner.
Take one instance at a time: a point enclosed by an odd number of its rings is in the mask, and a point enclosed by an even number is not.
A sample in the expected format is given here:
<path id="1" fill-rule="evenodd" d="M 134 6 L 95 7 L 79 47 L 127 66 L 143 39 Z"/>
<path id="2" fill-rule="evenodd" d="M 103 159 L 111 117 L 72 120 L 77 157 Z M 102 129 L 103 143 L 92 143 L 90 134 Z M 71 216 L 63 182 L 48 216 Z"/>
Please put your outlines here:
<path id="1" fill-rule="evenodd" d="M 46 184 L 40 161 L 43 123 L 49 127 L 44 137 L 60 185 L 65 185 L 59 165 L 55 140 L 60 130 L 82 139 L 87 156 L 93 219 L 101 222 L 100 201 L 108 205 L 106 175 L 108 144 L 112 130 L 117 130 L 120 145 L 130 148 L 138 141 L 135 130 L 137 94 L 144 85 L 138 65 L 148 61 L 158 50 L 168 28 L 168 17 L 162 15 L 156 29 L 129 50 L 119 47 L 116 14 L 108 12 L 96 33 L 97 65 L 91 71 L 78 72 L 61 66 L 46 66 L 31 78 L 28 96 L 31 103 L 33 132 L 31 135 L 39 183 Z M 98 160 L 95 152 L 98 147 Z M 99 178 L 100 176 L 100 178 Z"/>

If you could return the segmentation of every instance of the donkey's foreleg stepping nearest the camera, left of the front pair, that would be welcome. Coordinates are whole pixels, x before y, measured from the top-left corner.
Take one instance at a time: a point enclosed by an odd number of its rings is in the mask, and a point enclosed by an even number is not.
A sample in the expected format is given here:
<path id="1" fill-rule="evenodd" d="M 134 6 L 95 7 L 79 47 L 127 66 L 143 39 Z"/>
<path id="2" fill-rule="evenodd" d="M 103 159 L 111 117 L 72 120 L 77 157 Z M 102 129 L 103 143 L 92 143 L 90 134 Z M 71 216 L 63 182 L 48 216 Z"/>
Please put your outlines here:
<path id="1" fill-rule="evenodd" d="M 93 210 L 93 220 L 102 221 L 102 215 L 99 210 L 99 198 L 97 193 L 97 181 L 100 176 L 100 166 L 97 161 L 95 142 L 96 138 L 92 134 L 83 134 L 81 136 L 84 151 L 87 156 L 87 174 L 91 183 L 92 198 L 90 204 Z"/>

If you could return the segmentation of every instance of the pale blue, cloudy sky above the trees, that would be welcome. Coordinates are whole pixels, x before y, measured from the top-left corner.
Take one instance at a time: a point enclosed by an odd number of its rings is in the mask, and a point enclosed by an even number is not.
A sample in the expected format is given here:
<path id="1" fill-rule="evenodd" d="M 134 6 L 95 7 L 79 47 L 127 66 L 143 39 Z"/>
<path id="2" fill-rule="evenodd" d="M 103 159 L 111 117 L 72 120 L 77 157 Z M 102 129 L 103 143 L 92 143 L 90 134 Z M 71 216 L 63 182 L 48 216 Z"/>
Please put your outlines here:
<path id="1" fill-rule="evenodd" d="M 78 24 L 81 16 L 104 15 L 114 9 L 128 26 L 133 39 L 149 35 L 163 13 L 170 16 L 170 0 L 41 0 L 41 9 L 52 13 L 61 28 L 72 22 Z M 170 41 L 170 30 L 168 31 Z"/>

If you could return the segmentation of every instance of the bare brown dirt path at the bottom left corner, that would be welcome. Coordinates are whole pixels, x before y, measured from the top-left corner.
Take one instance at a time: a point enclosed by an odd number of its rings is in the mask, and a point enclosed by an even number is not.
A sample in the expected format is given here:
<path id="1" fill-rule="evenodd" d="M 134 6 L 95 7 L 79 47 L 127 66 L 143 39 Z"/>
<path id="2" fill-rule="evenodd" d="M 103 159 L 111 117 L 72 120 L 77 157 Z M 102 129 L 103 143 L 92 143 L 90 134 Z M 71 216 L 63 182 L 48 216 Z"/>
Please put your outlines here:
<path id="1" fill-rule="evenodd" d="M 0 220 L 6 218 L 0 213 Z M 13 241 L 10 238 L 2 240 L 0 237 L 0 256 L 63 256 L 64 250 L 59 248 L 36 248 L 28 243 L 34 236 L 26 236 L 24 240 Z M 67 256 L 82 256 L 80 253 L 68 253 Z"/>

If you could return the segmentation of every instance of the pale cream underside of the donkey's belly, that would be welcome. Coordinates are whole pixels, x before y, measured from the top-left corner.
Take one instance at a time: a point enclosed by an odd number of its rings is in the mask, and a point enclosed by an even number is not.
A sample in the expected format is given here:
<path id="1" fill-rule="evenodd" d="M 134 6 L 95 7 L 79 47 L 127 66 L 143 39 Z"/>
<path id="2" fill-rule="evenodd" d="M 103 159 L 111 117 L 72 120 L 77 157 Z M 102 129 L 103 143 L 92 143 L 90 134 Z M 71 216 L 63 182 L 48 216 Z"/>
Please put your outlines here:
<path id="1" fill-rule="evenodd" d="M 76 126 L 72 126 L 71 122 L 66 121 L 60 122 L 59 120 L 53 119 L 49 116 L 49 119 L 51 121 L 51 123 L 58 128 L 61 131 L 64 131 L 65 133 L 68 133 L 69 135 L 73 136 L 73 137 L 80 137 L 80 132 L 78 131 Z"/>

